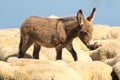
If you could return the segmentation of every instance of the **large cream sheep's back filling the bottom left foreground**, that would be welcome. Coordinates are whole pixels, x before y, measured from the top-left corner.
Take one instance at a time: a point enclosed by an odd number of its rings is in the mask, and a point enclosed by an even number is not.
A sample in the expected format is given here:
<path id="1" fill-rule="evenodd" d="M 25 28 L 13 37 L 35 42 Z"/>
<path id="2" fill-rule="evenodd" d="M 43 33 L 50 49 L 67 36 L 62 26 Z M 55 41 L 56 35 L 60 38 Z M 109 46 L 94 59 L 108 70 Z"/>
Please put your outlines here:
<path id="1" fill-rule="evenodd" d="M 0 80 L 83 80 L 65 62 L 35 59 L 0 61 Z"/>

